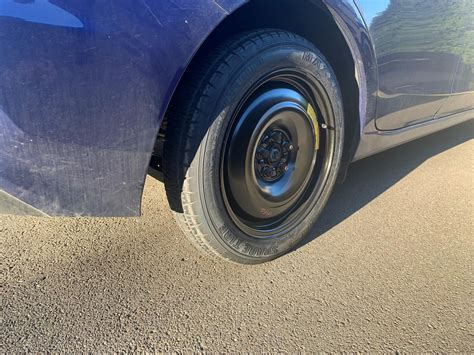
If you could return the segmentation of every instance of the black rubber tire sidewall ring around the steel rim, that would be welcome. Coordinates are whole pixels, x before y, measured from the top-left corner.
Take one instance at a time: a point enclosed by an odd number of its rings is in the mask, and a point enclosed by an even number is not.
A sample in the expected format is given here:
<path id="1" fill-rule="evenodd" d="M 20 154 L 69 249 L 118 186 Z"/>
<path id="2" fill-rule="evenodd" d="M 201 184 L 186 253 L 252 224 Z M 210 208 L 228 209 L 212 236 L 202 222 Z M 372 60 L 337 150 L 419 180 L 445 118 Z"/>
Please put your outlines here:
<path id="1" fill-rule="evenodd" d="M 274 259 L 289 250 L 312 232 L 315 222 L 325 206 L 334 186 L 339 170 L 343 147 L 342 100 L 336 77 L 324 57 L 311 45 L 280 45 L 248 53 L 241 58 L 241 65 L 222 78 L 219 92 L 209 115 L 209 129 L 202 140 L 190 166 L 191 175 L 197 176 L 192 183 L 200 194 L 201 208 L 205 219 L 204 229 L 211 237 L 209 243 L 229 259 L 245 263 L 259 263 Z M 335 142 L 329 174 L 324 187 L 315 197 L 311 212 L 293 230 L 278 238 L 257 239 L 243 233 L 227 213 L 221 191 L 220 164 L 225 152 L 223 147 L 226 132 L 232 124 L 233 113 L 240 98 L 253 83 L 265 74 L 286 68 L 299 68 L 313 76 L 329 97 L 334 120 Z"/>

